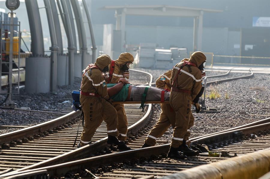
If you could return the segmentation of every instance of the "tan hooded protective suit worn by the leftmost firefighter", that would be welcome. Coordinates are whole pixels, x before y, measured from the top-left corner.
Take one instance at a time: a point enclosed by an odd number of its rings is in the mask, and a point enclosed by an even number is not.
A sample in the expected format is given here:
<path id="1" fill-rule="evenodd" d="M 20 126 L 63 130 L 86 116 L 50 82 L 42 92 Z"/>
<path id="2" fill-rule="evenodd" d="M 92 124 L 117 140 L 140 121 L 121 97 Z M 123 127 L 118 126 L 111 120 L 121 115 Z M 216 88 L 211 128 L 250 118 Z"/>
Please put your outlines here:
<path id="1" fill-rule="evenodd" d="M 111 59 L 108 55 L 101 55 L 97 58 L 95 65 L 99 69 L 88 69 L 82 77 L 81 91 L 85 93 L 99 94 L 100 97 L 80 95 L 80 102 L 84 112 L 85 124 L 81 134 L 81 146 L 91 142 L 97 128 L 104 120 L 107 124 L 108 135 L 118 136 L 117 112 L 107 100 L 110 99 L 107 92 L 107 85 L 102 76 L 101 70 L 108 66 Z"/>

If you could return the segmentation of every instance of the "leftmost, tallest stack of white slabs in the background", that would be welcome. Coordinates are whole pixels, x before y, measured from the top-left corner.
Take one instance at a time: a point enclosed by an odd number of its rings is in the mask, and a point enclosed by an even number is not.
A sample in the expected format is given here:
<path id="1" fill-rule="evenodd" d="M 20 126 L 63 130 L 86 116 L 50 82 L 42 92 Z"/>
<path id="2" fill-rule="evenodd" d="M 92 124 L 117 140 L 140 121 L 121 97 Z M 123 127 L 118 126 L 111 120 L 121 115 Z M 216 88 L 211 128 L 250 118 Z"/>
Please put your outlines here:
<path id="1" fill-rule="evenodd" d="M 143 68 L 152 68 L 155 65 L 154 43 L 140 43 L 139 48 L 139 66 Z"/>

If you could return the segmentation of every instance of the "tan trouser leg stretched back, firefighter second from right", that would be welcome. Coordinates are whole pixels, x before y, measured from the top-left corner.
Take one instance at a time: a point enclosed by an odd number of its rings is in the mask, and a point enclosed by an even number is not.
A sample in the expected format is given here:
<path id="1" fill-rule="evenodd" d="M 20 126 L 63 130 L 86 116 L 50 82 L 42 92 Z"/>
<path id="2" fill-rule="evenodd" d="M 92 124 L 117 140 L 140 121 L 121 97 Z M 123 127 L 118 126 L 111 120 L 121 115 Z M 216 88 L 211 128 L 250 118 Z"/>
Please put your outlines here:
<path id="1" fill-rule="evenodd" d="M 161 114 L 159 120 L 157 124 L 149 132 L 148 136 L 146 137 L 146 140 L 144 141 L 144 143 L 148 144 L 149 146 L 156 145 L 156 139 L 154 139 L 153 137 L 155 138 L 161 137 L 171 125 L 173 126 L 173 128 L 175 127 L 175 112 L 171 111 L 171 105 L 160 104 L 160 106 L 161 106 Z"/>

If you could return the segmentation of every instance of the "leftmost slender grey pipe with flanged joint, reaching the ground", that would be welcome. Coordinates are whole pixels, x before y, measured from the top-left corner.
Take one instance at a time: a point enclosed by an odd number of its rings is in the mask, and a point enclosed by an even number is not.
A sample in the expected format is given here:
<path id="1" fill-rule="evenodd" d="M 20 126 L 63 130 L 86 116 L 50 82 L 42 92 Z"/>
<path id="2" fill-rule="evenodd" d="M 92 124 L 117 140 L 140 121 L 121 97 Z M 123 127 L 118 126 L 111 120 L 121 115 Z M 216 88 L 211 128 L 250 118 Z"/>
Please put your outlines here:
<path id="1" fill-rule="evenodd" d="M 57 39 L 56 39 L 56 33 L 55 33 L 55 27 L 54 27 L 54 21 L 52 18 L 52 10 L 49 0 L 44 0 L 44 5 L 46 9 L 47 19 L 48 19 L 48 25 L 49 25 L 49 31 L 50 31 L 50 37 L 51 37 L 51 44 L 50 47 L 51 50 L 51 73 L 50 73 L 50 79 L 51 79 L 51 92 L 53 94 L 56 94 L 57 89 Z"/>

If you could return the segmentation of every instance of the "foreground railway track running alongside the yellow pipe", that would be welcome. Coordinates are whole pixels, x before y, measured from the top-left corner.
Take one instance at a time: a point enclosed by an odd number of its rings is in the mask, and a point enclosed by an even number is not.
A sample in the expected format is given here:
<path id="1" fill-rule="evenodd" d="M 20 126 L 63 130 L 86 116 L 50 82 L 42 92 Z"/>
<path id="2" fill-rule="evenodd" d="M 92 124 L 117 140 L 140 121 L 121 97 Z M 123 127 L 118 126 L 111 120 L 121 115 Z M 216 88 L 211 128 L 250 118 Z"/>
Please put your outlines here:
<path id="1" fill-rule="evenodd" d="M 199 156 L 187 157 L 187 159 L 174 160 L 166 158 L 165 152 L 168 151 L 170 144 L 165 144 L 89 157 L 28 172 L 40 172 L 41 175 L 66 178 L 89 178 L 93 175 L 99 178 L 160 178 L 202 164 L 214 163 L 269 148 L 269 120 L 270 118 L 267 118 L 258 122 L 262 124 L 250 123 L 230 131 L 220 131 L 216 134 L 191 139 L 191 143 L 194 145 L 207 144 L 210 155 L 207 152 L 200 153 Z M 19 172 L 15 174 L 23 175 Z"/>

